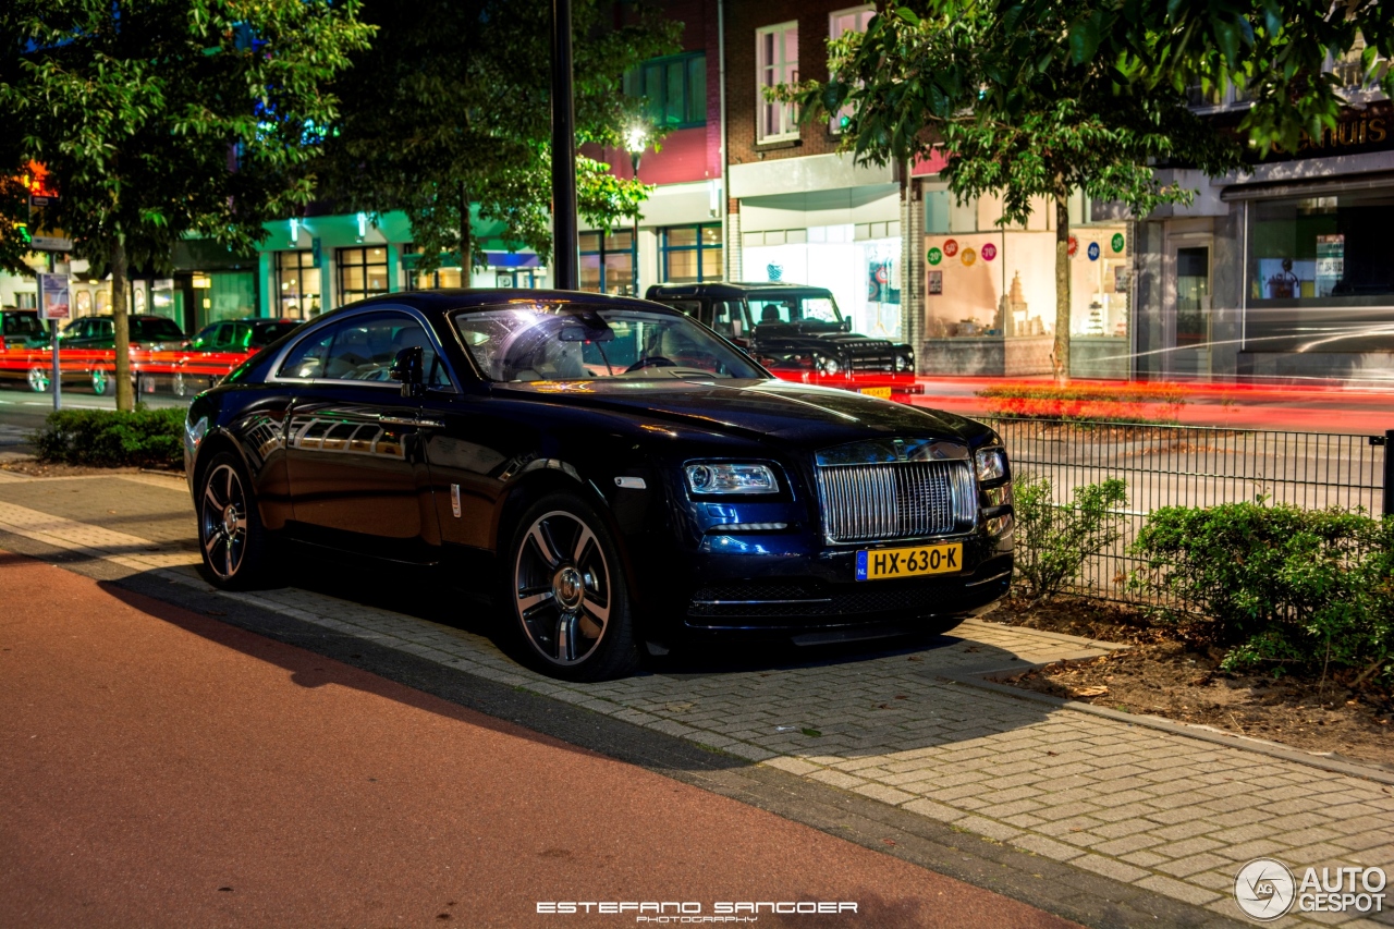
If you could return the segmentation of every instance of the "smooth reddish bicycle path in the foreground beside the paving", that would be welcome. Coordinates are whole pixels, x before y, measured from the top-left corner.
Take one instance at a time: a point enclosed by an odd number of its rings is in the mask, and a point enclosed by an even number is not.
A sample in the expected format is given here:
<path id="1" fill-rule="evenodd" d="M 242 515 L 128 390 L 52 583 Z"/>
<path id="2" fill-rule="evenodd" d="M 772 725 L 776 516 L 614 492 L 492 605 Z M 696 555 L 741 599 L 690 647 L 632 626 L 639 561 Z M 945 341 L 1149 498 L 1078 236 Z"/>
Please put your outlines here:
<path id="1" fill-rule="evenodd" d="M 853 901 L 1071 926 L 367 671 L 0 552 L 0 925 L 612 926 L 539 901 Z M 672 909 L 669 909 L 672 914 Z"/>

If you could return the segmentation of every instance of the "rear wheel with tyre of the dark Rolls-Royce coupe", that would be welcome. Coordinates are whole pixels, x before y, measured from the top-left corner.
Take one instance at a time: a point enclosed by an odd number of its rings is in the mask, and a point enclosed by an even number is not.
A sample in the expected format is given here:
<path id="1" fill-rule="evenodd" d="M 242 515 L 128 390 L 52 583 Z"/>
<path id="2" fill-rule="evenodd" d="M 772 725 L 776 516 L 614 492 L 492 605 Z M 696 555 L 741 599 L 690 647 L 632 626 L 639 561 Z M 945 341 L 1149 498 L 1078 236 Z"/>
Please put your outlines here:
<path id="1" fill-rule="evenodd" d="M 270 538 L 237 456 L 219 452 L 198 490 L 198 548 L 213 584 L 245 590 L 265 582 Z"/>

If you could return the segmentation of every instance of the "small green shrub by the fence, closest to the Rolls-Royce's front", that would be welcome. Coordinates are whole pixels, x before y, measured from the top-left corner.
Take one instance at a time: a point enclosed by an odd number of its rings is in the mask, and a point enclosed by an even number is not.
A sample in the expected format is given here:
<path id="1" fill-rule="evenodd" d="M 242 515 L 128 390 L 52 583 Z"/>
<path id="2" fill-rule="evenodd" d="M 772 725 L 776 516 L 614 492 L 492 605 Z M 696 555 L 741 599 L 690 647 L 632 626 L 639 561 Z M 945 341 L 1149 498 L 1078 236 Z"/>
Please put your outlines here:
<path id="1" fill-rule="evenodd" d="M 1046 477 L 1026 474 L 1012 488 L 1016 513 L 1016 573 L 1033 600 L 1050 600 L 1079 576 L 1085 561 L 1118 541 L 1128 501 L 1118 478 L 1075 488 L 1073 505 L 1055 504 Z"/>

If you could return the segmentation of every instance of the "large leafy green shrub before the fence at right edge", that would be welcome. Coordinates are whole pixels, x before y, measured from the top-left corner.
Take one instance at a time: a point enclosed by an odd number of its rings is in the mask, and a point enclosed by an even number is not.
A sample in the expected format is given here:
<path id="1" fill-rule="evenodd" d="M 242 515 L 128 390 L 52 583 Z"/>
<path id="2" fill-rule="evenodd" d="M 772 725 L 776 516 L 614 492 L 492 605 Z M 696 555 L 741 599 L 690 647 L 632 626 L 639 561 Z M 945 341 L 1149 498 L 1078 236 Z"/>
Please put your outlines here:
<path id="1" fill-rule="evenodd" d="M 1132 583 L 1203 611 L 1214 639 L 1230 646 L 1225 668 L 1388 674 L 1391 543 L 1394 519 L 1363 513 L 1262 502 L 1168 506 L 1133 543 L 1146 565 Z"/>

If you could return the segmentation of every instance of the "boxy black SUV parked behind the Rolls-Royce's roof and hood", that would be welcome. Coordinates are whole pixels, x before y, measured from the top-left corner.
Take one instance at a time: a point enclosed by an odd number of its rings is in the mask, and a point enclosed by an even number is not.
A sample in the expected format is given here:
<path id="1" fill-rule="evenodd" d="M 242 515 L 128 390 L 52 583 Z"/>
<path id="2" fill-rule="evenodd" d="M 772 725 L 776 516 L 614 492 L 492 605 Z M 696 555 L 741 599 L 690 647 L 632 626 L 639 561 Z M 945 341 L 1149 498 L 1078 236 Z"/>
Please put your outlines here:
<path id="1" fill-rule="evenodd" d="M 852 332 L 832 292 L 786 283 L 654 285 L 645 294 L 707 324 L 779 372 L 914 374 L 914 350 Z"/>

